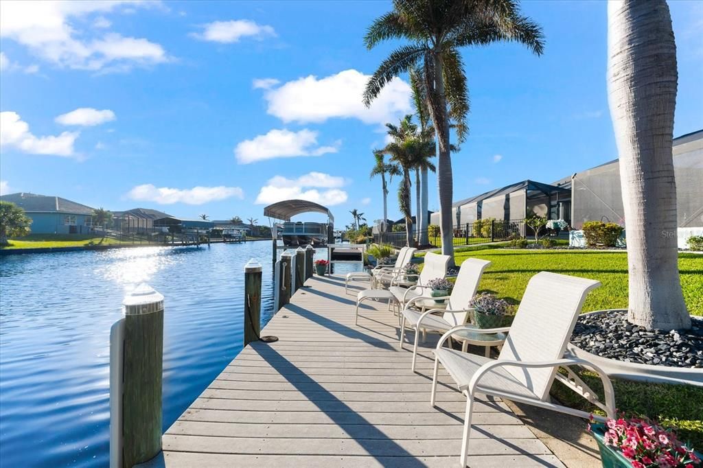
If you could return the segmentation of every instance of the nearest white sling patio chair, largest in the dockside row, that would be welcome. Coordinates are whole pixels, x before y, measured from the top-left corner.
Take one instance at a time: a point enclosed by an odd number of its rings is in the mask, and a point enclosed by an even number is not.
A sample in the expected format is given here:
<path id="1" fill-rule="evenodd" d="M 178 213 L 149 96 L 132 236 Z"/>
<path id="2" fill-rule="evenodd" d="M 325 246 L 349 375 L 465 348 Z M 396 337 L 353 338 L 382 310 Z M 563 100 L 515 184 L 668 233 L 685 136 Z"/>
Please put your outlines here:
<path id="1" fill-rule="evenodd" d="M 563 358 L 586 294 L 598 286 L 600 282 L 595 280 L 546 271 L 534 275 L 529 280 L 515 320 L 509 329 L 510 334 L 497 360 L 442 347 L 453 333 L 465 328 L 464 325 L 453 327 L 442 335 L 434 351 L 430 402 L 434 406 L 437 372 L 441 363 L 456 382 L 458 389 L 466 396 L 460 457 L 462 467 L 466 466 L 468 456 L 472 407 L 476 394 L 498 396 L 548 410 L 590 417 L 591 414 L 586 411 L 574 410 L 548 401 L 552 382 L 558 379 L 604 410 L 608 417 L 614 417 L 614 393 L 605 372 L 586 360 Z M 508 329 L 491 328 L 480 331 L 495 333 L 503 330 Z M 605 403 L 599 401 L 598 395 L 569 369 L 572 365 L 583 365 L 598 372 L 605 389 Z M 565 369 L 567 375 L 557 372 L 559 368 Z M 605 419 L 598 415 L 594 417 L 601 421 Z"/>

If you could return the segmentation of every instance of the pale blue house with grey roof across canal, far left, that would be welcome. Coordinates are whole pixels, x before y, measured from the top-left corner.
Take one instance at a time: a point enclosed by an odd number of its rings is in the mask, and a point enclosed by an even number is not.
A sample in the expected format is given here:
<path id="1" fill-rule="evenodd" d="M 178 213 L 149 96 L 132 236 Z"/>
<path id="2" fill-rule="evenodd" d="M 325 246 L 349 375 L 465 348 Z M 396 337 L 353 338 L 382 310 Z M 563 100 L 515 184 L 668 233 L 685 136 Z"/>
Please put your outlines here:
<path id="1" fill-rule="evenodd" d="M 88 234 L 93 227 L 93 208 L 65 198 L 11 193 L 0 200 L 25 210 L 32 219 L 32 234 Z"/>

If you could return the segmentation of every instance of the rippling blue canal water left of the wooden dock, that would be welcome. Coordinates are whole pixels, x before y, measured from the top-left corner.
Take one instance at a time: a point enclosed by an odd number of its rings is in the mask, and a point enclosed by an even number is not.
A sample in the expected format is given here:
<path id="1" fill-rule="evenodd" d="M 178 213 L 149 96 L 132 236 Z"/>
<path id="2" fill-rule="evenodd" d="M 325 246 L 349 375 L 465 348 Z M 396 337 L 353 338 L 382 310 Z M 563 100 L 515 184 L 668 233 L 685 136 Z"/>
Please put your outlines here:
<path id="1" fill-rule="evenodd" d="M 0 465 L 108 464 L 110 326 L 141 282 L 165 297 L 167 429 L 242 349 L 250 258 L 265 323 L 271 242 L 0 257 Z"/>

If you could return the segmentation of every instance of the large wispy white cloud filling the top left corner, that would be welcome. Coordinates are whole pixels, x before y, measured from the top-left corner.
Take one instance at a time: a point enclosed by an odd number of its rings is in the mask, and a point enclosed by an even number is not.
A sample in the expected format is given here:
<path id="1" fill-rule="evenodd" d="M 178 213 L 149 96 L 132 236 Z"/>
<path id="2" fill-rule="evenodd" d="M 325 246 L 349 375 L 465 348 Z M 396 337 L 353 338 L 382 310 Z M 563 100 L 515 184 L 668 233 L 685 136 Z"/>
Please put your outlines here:
<path id="1" fill-rule="evenodd" d="M 114 32 L 100 37 L 96 31 L 77 28 L 96 13 L 125 13 L 123 7 L 127 4 L 146 8 L 160 5 L 140 0 L 2 1 L 0 37 L 27 46 L 34 55 L 51 63 L 81 70 L 129 70 L 133 65 L 169 60 L 162 46 L 147 39 L 122 37 Z M 100 18 L 96 22 L 105 25 Z"/>

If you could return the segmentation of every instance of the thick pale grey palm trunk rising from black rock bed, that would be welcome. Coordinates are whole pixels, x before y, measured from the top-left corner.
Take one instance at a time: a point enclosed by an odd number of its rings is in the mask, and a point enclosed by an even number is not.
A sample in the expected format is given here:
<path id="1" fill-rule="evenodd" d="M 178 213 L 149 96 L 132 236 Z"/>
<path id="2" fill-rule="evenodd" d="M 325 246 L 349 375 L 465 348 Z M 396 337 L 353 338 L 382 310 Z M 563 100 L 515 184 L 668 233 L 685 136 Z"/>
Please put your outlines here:
<path id="1" fill-rule="evenodd" d="M 608 4 L 608 93 L 627 226 L 628 320 L 690 328 L 676 247 L 676 42 L 664 0 Z"/>

